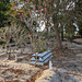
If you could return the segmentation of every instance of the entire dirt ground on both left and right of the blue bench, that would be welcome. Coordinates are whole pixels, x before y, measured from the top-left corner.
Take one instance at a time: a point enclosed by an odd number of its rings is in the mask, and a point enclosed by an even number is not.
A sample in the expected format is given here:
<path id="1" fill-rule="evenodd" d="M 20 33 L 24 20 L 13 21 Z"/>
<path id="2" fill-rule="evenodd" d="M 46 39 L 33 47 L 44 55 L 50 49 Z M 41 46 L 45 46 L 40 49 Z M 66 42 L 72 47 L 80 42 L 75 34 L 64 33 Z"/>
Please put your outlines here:
<path id="1" fill-rule="evenodd" d="M 61 50 L 52 49 L 52 70 L 44 70 L 35 82 L 82 82 L 82 45 L 70 42 L 62 45 Z M 30 65 L 32 54 L 16 50 L 8 60 L 4 51 L 0 50 L 0 82 L 26 82 L 40 70 Z"/>

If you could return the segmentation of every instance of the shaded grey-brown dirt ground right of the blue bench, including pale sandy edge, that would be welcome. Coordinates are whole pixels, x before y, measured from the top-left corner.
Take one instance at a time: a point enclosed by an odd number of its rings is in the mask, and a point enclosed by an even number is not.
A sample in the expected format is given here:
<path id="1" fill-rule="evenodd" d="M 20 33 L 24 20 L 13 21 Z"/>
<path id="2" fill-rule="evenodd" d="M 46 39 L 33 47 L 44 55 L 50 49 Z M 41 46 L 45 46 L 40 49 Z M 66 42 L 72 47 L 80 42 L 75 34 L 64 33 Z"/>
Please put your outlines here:
<path id="1" fill-rule="evenodd" d="M 82 45 L 66 43 L 52 50 L 52 70 L 45 70 L 35 82 L 82 82 Z"/>

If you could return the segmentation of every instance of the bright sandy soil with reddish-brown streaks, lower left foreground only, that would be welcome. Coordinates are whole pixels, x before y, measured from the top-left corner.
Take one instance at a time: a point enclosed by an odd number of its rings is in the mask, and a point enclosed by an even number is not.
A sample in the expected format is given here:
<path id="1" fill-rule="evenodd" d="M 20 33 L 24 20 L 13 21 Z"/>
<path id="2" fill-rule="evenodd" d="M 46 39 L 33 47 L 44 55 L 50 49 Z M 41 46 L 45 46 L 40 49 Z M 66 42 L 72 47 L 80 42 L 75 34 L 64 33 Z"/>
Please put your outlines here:
<path id="1" fill-rule="evenodd" d="M 12 60 L 0 60 L 0 82 L 26 82 L 39 68 Z"/>

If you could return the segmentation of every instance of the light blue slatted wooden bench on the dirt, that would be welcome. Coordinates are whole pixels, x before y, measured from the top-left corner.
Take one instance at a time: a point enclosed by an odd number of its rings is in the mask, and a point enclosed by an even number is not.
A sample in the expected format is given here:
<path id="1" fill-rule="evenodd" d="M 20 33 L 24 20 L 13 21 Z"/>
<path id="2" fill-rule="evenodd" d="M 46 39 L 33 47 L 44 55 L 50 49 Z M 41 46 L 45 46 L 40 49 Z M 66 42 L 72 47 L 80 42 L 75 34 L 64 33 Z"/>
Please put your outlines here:
<path id="1" fill-rule="evenodd" d="M 43 54 L 34 54 L 31 59 L 31 65 L 44 66 L 52 58 L 52 54 L 50 50 L 45 51 Z"/>

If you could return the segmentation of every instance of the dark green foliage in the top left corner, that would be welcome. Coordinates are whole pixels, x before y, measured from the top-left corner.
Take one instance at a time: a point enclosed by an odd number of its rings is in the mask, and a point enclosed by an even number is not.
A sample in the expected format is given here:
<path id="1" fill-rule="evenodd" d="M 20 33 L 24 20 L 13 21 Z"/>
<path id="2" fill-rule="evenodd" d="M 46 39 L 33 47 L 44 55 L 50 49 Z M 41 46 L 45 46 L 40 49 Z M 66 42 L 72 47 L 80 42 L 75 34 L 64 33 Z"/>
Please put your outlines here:
<path id="1" fill-rule="evenodd" d="M 7 11 L 10 9 L 10 0 L 0 0 L 0 27 L 4 26 L 9 17 Z"/>

